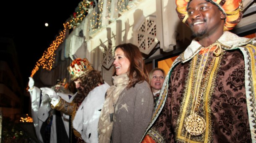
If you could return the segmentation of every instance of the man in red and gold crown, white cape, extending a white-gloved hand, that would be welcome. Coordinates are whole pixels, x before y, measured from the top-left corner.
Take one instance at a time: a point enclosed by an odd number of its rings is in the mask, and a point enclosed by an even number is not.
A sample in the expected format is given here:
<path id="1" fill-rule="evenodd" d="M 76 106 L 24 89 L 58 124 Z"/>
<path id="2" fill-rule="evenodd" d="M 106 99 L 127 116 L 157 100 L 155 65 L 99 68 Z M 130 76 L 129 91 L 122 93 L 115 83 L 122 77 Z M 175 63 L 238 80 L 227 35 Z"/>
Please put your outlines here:
<path id="1" fill-rule="evenodd" d="M 68 71 L 78 89 L 71 98 L 71 103 L 60 98 L 49 88 L 41 88 L 41 90 L 52 98 L 52 108 L 72 115 L 71 125 L 75 138 L 71 142 L 97 143 L 99 115 L 105 93 L 110 86 L 104 83 L 101 73 L 94 70 L 86 58 L 73 60 Z"/>

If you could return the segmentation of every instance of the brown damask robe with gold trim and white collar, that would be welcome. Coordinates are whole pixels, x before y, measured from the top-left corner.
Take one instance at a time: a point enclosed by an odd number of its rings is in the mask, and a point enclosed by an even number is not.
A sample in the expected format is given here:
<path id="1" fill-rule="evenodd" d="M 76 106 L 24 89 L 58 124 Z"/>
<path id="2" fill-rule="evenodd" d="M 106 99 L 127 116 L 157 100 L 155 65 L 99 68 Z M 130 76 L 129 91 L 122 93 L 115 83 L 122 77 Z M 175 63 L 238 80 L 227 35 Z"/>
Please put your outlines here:
<path id="1" fill-rule="evenodd" d="M 216 43 L 219 54 L 195 39 L 175 60 L 142 142 L 256 142 L 256 41 L 224 32 Z M 205 121 L 200 135 L 186 130 L 193 114 Z"/>

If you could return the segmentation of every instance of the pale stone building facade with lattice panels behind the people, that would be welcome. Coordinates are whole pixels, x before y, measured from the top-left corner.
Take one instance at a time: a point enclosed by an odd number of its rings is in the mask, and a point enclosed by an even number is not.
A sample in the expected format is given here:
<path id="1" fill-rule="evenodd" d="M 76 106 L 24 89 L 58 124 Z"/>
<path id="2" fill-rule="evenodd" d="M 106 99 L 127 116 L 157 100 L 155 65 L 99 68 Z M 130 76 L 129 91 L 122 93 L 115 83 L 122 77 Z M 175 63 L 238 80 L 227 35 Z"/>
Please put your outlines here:
<path id="1" fill-rule="evenodd" d="M 97 7 L 90 9 L 86 18 L 64 40 L 65 58 L 87 58 L 110 84 L 115 46 L 133 43 L 139 46 L 146 60 L 155 60 L 180 53 L 191 42 L 191 30 L 178 19 L 175 0 L 123 0 L 127 5 L 122 8 L 118 2 L 98 0 L 99 11 Z M 251 25 L 256 27 L 255 14 L 250 14 L 255 12 L 254 4 L 250 4 L 253 2 L 243 2 L 250 7 L 245 8 L 250 12 L 245 12 L 246 16 L 237 26 L 239 32 L 250 30 Z M 100 24 L 94 22 L 95 18 Z M 156 48 L 158 52 L 153 53 Z"/>

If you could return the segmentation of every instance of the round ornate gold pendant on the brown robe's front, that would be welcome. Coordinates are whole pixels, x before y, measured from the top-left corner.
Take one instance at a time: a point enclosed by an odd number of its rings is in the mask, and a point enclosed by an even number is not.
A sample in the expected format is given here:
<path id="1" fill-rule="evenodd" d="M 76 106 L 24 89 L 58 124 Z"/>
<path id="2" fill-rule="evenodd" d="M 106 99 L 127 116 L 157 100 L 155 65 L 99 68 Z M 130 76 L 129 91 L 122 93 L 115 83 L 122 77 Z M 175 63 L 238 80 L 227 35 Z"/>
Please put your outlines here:
<path id="1" fill-rule="evenodd" d="M 199 115 L 189 115 L 185 119 L 185 130 L 191 135 L 201 135 L 205 131 L 205 120 Z"/>

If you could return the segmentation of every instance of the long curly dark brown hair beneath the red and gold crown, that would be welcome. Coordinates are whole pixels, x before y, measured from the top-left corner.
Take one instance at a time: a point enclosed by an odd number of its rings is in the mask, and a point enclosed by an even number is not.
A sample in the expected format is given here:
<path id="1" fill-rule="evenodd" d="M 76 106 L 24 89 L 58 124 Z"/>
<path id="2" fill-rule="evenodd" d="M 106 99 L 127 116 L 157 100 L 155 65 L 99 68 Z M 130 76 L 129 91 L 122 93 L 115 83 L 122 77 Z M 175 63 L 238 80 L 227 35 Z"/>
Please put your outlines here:
<path id="1" fill-rule="evenodd" d="M 78 93 L 74 98 L 75 103 L 83 102 L 91 90 L 104 83 L 101 73 L 97 70 L 91 70 L 88 75 L 82 76 L 80 79 L 82 81 L 81 87 L 83 88 L 78 89 Z"/>

